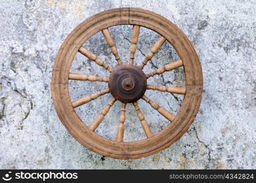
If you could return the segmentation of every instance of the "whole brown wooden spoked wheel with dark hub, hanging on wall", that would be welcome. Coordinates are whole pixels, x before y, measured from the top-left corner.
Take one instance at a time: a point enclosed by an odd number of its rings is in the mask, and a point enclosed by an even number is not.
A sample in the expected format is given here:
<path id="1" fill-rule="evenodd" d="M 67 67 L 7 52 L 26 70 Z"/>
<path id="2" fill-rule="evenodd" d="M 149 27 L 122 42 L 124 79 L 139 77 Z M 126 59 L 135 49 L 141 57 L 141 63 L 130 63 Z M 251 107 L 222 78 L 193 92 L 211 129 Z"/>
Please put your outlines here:
<path id="1" fill-rule="evenodd" d="M 118 50 L 108 31 L 108 27 L 119 26 L 122 24 L 130 24 L 133 26 L 130 60 L 127 64 L 122 63 L 118 56 Z M 135 66 L 134 54 L 141 26 L 154 30 L 157 34 L 160 34 L 161 37 L 151 47 L 141 65 Z M 111 52 L 116 58 L 116 68 L 110 68 L 110 66 L 106 65 L 95 54 L 82 46 L 88 38 L 100 31 L 102 31 Z M 167 65 L 158 68 L 156 71 L 144 74 L 142 71 L 143 67 L 152 59 L 165 41 L 170 42 L 180 59 L 170 62 Z M 70 66 L 77 52 L 80 52 L 85 57 L 88 57 L 89 60 L 108 70 L 110 72 L 110 77 L 103 78 L 70 73 Z M 162 74 L 165 71 L 174 70 L 180 66 L 184 67 L 186 74 L 186 88 L 147 85 L 146 79 L 148 77 Z M 108 82 L 108 88 L 97 93 L 92 93 L 92 95 L 85 96 L 77 101 L 71 101 L 69 96 L 69 79 Z M 146 157 L 167 148 L 181 138 L 198 112 L 202 96 L 202 87 L 203 74 L 201 72 L 200 61 L 186 35 L 184 35 L 175 24 L 164 17 L 148 10 L 137 8 L 107 10 L 91 16 L 78 25 L 69 34 L 59 49 L 51 80 L 53 104 L 59 119 L 66 127 L 67 131 L 69 131 L 69 133 L 86 148 L 102 154 L 103 156 L 113 157 L 115 159 L 137 159 Z M 172 115 L 170 112 L 160 107 L 159 104 L 145 96 L 146 89 L 185 95 L 177 115 Z M 98 117 L 92 121 L 91 125 L 86 126 L 80 120 L 74 108 L 97 99 L 99 96 L 105 95 L 106 93 L 111 93 L 113 98 L 108 102 L 106 107 L 102 109 L 102 112 Z M 153 107 L 157 112 L 167 118 L 167 120 L 170 121 L 170 124 L 159 133 L 152 134 L 151 129 L 138 106 L 138 99 L 143 99 L 148 102 L 149 106 Z M 105 115 L 107 115 L 110 107 L 113 106 L 117 100 L 122 102 L 122 107 L 119 117 L 118 134 L 116 135 L 116 141 L 113 141 L 101 137 L 94 131 L 104 119 Z M 127 103 L 132 103 L 137 111 L 141 126 L 147 137 L 144 140 L 122 142 Z"/>

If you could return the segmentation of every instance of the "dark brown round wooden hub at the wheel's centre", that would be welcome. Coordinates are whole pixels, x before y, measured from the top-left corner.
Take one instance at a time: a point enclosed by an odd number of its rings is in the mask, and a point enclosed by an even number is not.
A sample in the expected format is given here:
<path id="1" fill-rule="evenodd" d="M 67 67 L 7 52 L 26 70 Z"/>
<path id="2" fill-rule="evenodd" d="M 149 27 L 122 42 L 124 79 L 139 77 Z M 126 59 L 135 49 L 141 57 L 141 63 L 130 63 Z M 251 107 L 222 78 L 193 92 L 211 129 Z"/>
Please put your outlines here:
<path id="1" fill-rule="evenodd" d="M 117 66 L 110 74 L 108 88 L 115 99 L 131 103 L 140 99 L 146 91 L 146 76 L 137 66 Z"/>

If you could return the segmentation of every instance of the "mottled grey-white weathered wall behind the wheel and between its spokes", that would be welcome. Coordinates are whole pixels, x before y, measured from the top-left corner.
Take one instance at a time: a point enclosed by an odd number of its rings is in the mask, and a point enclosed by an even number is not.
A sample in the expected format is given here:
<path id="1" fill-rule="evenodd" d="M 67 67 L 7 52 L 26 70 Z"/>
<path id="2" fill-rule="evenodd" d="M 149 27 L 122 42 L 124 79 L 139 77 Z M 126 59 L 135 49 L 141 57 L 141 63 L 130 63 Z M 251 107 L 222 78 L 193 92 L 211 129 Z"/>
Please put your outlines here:
<path id="1" fill-rule="evenodd" d="M 53 63 L 61 43 L 83 20 L 102 10 L 140 7 L 165 16 L 187 35 L 201 61 L 204 77 L 200 110 L 189 131 L 162 152 L 136 160 L 102 157 L 81 146 L 62 126 L 51 100 Z M 255 0 L 1 0 L 0 1 L 0 168 L 85 169 L 211 169 L 256 168 L 256 30 Z M 110 32 L 124 62 L 129 60 L 131 26 Z M 135 63 L 140 63 L 155 32 L 141 29 Z M 102 34 L 86 43 L 104 62 L 115 66 Z M 146 73 L 178 59 L 165 43 Z M 72 72 L 108 76 L 107 71 L 81 54 Z M 183 68 L 149 79 L 149 84 L 184 87 Z M 70 98 L 81 98 L 107 84 L 72 81 Z M 181 95 L 146 91 L 176 114 Z M 105 95 L 78 107 L 78 116 L 90 124 L 109 101 Z M 144 101 L 138 102 L 154 133 L 168 125 Z M 114 139 L 120 102 L 97 129 Z M 127 105 L 124 140 L 145 138 L 132 105 Z"/>

